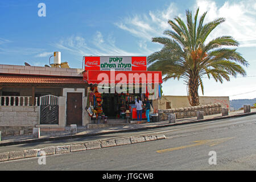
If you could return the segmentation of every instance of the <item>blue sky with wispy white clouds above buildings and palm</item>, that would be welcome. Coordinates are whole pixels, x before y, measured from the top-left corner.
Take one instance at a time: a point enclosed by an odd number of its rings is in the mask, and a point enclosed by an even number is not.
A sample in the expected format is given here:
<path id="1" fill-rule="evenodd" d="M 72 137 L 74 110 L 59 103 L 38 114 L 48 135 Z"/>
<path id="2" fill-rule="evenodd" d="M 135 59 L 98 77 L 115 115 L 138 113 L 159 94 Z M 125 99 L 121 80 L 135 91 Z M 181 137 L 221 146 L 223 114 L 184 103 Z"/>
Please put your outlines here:
<path id="1" fill-rule="evenodd" d="M 46 17 L 38 16 L 41 2 L 46 4 Z M 61 51 L 61 61 L 68 61 L 71 68 L 82 68 L 82 56 L 148 56 L 162 47 L 152 43 L 151 38 L 163 36 L 163 31 L 170 29 L 168 19 L 184 19 L 185 10 L 195 12 L 198 6 L 199 14 L 208 11 L 205 22 L 226 18 L 209 40 L 233 36 L 240 42 L 238 52 L 250 64 L 247 77 L 232 78 L 224 84 L 204 78 L 204 95 L 255 98 L 255 0 L 1 0 L 0 64 L 24 65 L 26 61 L 44 66 L 54 51 Z M 164 82 L 163 92 L 187 94 L 182 80 Z"/>

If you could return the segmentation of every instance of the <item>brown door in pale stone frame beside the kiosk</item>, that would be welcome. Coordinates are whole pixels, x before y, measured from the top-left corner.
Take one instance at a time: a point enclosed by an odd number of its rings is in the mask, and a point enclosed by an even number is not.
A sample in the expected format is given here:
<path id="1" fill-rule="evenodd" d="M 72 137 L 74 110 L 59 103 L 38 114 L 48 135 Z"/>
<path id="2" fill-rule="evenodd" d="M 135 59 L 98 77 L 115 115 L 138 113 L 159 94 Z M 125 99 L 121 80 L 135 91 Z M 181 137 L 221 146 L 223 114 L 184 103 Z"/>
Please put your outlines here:
<path id="1" fill-rule="evenodd" d="M 82 125 L 82 93 L 67 93 L 67 125 Z"/>

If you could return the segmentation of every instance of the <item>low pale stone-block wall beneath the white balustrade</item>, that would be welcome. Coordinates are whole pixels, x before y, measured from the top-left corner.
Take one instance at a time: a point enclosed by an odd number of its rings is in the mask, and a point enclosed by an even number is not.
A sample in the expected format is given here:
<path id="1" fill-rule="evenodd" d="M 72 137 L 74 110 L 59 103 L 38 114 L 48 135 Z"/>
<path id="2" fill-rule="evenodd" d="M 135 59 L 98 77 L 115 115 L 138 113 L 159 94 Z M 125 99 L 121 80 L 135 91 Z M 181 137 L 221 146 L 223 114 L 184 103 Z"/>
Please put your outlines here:
<path id="1" fill-rule="evenodd" d="M 32 134 L 39 123 L 40 106 L 0 106 L 2 136 Z"/>

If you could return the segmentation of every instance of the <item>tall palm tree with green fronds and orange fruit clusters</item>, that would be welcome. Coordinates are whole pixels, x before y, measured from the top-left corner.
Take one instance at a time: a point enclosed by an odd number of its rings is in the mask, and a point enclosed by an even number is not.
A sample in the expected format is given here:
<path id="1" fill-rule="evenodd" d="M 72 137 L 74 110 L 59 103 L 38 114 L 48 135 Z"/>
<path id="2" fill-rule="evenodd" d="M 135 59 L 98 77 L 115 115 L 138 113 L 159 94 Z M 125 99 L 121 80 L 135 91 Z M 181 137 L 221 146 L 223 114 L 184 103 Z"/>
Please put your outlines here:
<path id="1" fill-rule="evenodd" d="M 172 30 L 166 30 L 163 34 L 171 38 L 152 38 L 152 42 L 163 44 L 163 48 L 152 53 L 147 60 L 150 63 L 148 70 L 162 71 L 164 81 L 170 78 L 183 78 L 191 106 L 200 104 L 198 89 L 200 86 L 204 94 L 203 76 L 213 77 L 216 82 L 222 83 L 224 79 L 230 81 L 230 76 L 236 77 L 238 73 L 246 76 L 241 65 L 249 66 L 237 49 L 227 48 L 237 47 L 239 44 L 232 36 L 220 36 L 208 43 L 205 42 L 210 32 L 223 23 L 225 18 L 203 24 L 207 14 L 205 12 L 197 26 L 198 13 L 199 9 L 193 22 L 191 11 L 186 11 L 187 25 L 179 16 L 174 19 L 175 21 L 168 20 Z"/>

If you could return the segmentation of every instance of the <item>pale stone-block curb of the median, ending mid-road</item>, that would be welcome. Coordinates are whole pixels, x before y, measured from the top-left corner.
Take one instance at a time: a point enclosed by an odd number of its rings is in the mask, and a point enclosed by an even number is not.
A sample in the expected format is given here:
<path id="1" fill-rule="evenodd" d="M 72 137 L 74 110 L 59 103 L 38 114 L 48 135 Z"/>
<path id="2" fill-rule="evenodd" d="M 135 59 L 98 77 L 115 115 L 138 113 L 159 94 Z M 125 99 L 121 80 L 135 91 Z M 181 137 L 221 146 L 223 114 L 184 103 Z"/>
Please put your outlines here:
<path id="1" fill-rule="evenodd" d="M 67 154 L 76 151 L 93 150 L 97 148 L 122 146 L 126 144 L 148 142 L 153 140 L 166 139 L 165 135 L 139 135 L 125 138 L 95 140 L 84 143 L 74 143 L 67 146 L 44 147 L 30 150 L 10 151 L 0 153 L 0 162 L 9 160 L 35 158 L 45 155 Z"/>

